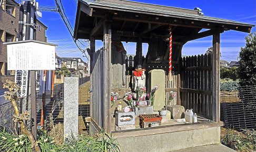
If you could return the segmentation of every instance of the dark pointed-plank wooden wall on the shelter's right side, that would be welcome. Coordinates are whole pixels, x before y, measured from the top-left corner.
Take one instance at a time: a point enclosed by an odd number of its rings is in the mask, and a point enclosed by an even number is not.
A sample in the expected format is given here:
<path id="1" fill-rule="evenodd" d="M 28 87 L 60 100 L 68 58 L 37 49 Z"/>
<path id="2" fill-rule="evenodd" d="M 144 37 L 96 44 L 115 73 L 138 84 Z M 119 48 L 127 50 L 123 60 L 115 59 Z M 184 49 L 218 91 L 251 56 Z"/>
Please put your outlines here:
<path id="1" fill-rule="evenodd" d="M 181 105 L 212 119 L 212 55 L 183 57 Z"/>

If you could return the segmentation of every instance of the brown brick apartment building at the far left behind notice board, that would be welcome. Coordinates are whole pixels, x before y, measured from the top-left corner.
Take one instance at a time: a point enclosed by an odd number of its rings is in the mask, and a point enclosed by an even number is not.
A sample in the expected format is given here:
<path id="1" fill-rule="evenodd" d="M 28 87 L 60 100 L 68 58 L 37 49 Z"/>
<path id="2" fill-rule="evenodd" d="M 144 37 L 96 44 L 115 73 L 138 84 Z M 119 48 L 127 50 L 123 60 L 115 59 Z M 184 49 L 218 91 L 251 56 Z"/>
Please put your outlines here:
<path id="1" fill-rule="evenodd" d="M 16 41 L 18 38 L 19 4 L 14 0 L 0 1 L 0 89 L 6 80 L 14 81 L 15 71 L 7 70 L 7 47 L 4 42 Z M 47 41 L 45 26 L 40 20 L 36 21 L 36 40 Z"/>

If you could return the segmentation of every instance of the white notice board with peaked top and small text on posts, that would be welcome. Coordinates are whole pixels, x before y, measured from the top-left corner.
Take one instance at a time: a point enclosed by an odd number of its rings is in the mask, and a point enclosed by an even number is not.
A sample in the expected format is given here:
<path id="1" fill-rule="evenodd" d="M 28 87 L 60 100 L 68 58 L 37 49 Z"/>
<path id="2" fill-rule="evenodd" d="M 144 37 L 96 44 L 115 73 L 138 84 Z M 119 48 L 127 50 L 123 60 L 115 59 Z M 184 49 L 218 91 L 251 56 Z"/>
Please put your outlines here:
<path id="1" fill-rule="evenodd" d="M 8 70 L 55 70 L 55 46 L 39 42 L 7 44 Z"/>

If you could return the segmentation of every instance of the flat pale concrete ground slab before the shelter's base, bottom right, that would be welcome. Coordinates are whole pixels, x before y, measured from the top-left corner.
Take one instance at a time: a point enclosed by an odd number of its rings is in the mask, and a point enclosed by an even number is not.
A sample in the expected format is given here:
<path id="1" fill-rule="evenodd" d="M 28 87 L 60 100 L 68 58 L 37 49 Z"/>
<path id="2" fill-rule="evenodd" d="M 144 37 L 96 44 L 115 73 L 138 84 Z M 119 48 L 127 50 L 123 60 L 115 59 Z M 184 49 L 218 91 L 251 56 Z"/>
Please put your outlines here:
<path id="1" fill-rule="evenodd" d="M 205 146 L 198 146 L 198 147 L 192 147 L 192 148 L 186 148 L 186 149 L 180 149 L 180 150 L 173 150 L 176 152 L 205 152 L 205 151 L 211 151 L 211 152 L 235 152 L 235 150 L 230 149 L 229 147 L 226 147 L 222 144 L 213 144 L 213 145 L 205 145 Z"/>

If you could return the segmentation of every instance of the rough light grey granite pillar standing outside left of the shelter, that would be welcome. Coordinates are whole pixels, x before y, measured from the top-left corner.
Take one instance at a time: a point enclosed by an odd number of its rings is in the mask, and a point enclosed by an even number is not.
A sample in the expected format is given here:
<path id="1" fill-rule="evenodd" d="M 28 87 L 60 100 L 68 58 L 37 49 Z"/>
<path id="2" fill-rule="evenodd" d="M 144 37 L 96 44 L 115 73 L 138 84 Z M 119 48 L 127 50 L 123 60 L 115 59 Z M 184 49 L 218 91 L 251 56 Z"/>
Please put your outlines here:
<path id="1" fill-rule="evenodd" d="M 64 140 L 78 137 L 78 77 L 64 78 Z"/>

